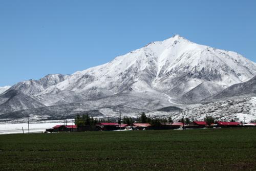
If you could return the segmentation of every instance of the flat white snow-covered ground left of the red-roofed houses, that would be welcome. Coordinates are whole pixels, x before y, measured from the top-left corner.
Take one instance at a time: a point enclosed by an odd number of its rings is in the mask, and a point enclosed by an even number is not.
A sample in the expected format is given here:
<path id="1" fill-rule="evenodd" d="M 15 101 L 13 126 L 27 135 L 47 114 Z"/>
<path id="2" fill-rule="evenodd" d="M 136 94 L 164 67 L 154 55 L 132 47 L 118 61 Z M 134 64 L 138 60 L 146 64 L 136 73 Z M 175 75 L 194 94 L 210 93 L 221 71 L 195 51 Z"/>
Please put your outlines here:
<path id="1" fill-rule="evenodd" d="M 43 132 L 46 129 L 50 129 L 55 125 L 63 124 L 60 122 L 53 123 L 30 123 L 29 124 L 29 132 Z M 0 124 L 0 134 L 22 134 L 22 127 L 24 129 L 24 133 L 28 133 L 28 123 L 1 123 Z"/>

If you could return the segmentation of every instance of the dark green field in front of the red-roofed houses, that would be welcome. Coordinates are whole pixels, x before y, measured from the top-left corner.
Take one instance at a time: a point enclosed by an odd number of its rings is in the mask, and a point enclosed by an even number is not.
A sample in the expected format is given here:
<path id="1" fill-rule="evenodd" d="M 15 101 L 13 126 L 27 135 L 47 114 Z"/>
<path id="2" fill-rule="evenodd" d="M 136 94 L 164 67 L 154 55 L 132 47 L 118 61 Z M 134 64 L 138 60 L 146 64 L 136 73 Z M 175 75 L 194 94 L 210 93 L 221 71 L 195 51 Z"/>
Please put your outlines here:
<path id="1" fill-rule="evenodd" d="M 256 129 L 0 135 L 0 170 L 256 170 Z"/>

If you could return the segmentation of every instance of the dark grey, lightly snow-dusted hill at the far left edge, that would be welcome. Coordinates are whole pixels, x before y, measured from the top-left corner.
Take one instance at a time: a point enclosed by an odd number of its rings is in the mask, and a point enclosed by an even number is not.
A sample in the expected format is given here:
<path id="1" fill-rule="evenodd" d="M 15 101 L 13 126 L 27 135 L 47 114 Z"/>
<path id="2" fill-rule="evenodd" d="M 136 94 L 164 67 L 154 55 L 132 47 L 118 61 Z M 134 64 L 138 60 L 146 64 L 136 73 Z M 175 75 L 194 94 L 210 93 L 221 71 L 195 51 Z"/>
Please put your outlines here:
<path id="1" fill-rule="evenodd" d="M 0 114 L 42 106 L 45 105 L 17 90 L 8 90 L 0 95 Z"/>

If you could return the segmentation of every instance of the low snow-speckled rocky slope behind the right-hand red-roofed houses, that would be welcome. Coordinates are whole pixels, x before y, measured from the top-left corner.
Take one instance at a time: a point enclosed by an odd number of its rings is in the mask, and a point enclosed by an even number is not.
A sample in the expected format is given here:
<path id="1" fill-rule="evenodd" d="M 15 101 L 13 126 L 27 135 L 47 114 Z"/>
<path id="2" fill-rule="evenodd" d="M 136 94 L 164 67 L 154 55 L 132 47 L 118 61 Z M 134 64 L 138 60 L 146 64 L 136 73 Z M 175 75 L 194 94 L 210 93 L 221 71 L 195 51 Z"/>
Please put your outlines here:
<path id="1" fill-rule="evenodd" d="M 180 120 L 182 116 L 190 120 L 203 120 L 208 115 L 222 121 L 230 121 L 231 119 L 244 121 L 245 119 L 246 122 L 250 122 L 256 119 L 256 97 L 198 104 L 180 112 L 151 111 L 146 115 L 153 117 L 172 116 L 174 121 Z"/>

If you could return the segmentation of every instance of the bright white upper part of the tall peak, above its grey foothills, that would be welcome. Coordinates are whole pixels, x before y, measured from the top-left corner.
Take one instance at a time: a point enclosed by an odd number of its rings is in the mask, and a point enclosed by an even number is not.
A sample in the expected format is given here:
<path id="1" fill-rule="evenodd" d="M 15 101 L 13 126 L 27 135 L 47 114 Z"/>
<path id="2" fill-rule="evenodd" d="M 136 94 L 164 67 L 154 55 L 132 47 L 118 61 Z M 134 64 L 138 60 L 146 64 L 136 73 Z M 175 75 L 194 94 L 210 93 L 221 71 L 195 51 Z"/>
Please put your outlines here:
<path id="1" fill-rule="evenodd" d="M 78 71 L 39 95 L 56 89 L 98 90 L 104 95 L 155 90 L 174 99 L 189 99 L 200 86 L 207 92 L 197 99 L 201 100 L 255 74 L 255 63 L 238 53 L 197 45 L 176 35 L 104 65 Z"/>

